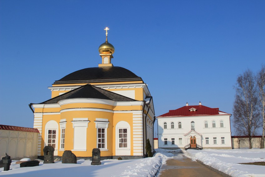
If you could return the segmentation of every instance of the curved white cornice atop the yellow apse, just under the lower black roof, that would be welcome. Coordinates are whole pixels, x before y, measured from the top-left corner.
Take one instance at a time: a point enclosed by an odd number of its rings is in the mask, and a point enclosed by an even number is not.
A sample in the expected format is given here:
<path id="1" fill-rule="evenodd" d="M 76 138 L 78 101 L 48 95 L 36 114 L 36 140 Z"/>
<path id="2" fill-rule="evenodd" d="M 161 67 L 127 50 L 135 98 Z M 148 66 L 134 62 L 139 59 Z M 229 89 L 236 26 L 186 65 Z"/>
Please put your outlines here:
<path id="1" fill-rule="evenodd" d="M 73 99 L 60 100 L 58 101 L 58 103 L 60 106 L 71 104 L 71 103 L 96 103 L 96 104 L 104 104 L 104 105 L 113 105 L 115 101 L 95 99 L 95 98 L 73 98 Z"/>

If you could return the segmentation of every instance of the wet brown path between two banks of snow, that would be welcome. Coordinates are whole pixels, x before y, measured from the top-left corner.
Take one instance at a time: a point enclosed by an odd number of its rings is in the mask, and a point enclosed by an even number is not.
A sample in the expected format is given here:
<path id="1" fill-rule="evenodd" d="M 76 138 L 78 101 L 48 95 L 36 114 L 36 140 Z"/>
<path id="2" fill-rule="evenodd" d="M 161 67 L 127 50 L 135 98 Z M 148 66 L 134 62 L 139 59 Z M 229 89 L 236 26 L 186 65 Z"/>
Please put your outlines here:
<path id="1" fill-rule="evenodd" d="M 210 170 L 209 168 L 201 165 L 197 161 L 183 156 L 182 154 L 176 154 L 173 159 L 166 161 L 166 165 L 163 165 L 160 169 L 158 177 L 222 177 L 222 175 Z"/>

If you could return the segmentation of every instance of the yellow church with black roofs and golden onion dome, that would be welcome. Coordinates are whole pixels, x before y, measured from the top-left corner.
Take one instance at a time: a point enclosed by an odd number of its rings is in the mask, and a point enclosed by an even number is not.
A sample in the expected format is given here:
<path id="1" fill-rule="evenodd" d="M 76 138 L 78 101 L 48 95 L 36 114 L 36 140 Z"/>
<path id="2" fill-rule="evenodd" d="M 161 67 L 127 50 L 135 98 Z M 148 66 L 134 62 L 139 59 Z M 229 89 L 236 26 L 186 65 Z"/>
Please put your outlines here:
<path id="1" fill-rule="evenodd" d="M 93 148 L 99 148 L 102 159 L 143 158 L 147 139 L 153 150 L 152 96 L 141 77 L 113 66 L 115 49 L 105 30 L 99 67 L 66 75 L 48 87 L 51 99 L 30 104 L 34 128 L 40 132 L 38 156 L 50 145 L 55 156 L 71 150 L 78 159 L 90 159 Z"/>

